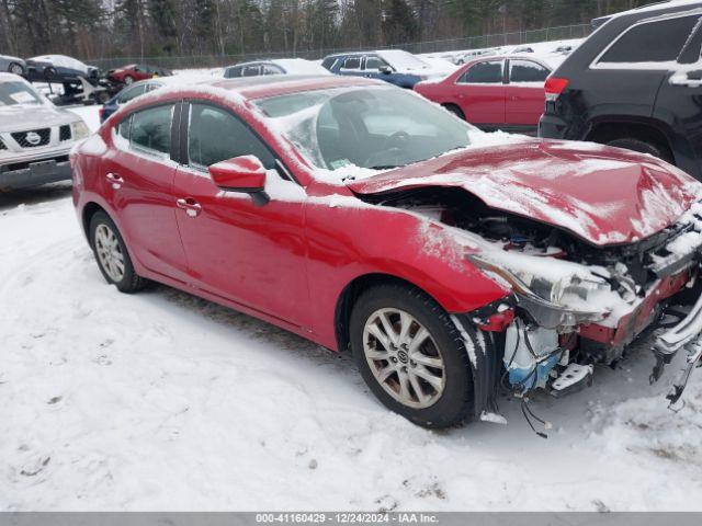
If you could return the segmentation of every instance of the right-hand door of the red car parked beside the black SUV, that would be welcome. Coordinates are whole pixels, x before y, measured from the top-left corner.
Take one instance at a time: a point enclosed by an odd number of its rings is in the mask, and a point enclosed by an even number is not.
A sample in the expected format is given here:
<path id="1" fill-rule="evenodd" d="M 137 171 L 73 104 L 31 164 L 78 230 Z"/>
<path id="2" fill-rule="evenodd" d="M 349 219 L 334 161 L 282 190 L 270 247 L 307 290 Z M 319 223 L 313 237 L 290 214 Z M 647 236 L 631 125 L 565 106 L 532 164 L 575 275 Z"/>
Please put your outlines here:
<path id="1" fill-rule="evenodd" d="M 509 59 L 506 87 L 506 127 L 535 133 L 544 111 L 544 82 L 551 72 L 544 65 L 529 59 Z"/>

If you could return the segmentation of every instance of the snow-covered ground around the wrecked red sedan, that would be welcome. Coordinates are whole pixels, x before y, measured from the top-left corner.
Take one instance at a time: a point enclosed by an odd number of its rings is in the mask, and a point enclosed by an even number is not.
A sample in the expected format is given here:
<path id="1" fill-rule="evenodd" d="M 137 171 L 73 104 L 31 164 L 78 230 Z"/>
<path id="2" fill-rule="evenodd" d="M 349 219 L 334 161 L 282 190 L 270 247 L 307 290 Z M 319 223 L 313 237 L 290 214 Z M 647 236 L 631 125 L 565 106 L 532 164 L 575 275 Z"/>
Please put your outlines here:
<path id="1" fill-rule="evenodd" d="M 97 107 L 78 108 L 94 126 Z M 509 425 L 389 413 L 348 356 L 154 286 L 107 286 L 67 184 L 0 196 L 0 511 L 702 510 L 702 374 L 647 342 Z"/>

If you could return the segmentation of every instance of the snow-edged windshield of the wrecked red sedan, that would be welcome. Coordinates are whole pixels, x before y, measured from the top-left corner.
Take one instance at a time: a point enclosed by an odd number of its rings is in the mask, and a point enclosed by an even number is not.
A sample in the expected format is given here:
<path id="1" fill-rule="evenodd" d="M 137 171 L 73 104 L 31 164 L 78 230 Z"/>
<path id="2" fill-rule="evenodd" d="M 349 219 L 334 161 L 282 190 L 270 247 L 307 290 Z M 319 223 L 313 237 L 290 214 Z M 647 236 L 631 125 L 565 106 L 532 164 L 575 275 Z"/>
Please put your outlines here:
<path id="1" fill-rule="evenodd" d="M 256 101 L 272 128 L 321 169 L 385 170 L 469 145 L 473 128 L 392 87 L 319 90 Z"/>

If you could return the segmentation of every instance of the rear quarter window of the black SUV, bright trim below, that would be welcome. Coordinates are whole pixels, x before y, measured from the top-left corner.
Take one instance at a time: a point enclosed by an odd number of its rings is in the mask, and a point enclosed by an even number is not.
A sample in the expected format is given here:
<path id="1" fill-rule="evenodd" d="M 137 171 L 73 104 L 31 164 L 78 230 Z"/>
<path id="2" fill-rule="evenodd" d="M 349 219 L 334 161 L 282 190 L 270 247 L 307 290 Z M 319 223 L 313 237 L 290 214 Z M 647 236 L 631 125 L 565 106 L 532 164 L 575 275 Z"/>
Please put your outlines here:
<path id="1" fill-rule="evenodd" d="M 680 16 L 633 26 L 598 64 L 667 62 L 678 58 L 699 16 Z"/>

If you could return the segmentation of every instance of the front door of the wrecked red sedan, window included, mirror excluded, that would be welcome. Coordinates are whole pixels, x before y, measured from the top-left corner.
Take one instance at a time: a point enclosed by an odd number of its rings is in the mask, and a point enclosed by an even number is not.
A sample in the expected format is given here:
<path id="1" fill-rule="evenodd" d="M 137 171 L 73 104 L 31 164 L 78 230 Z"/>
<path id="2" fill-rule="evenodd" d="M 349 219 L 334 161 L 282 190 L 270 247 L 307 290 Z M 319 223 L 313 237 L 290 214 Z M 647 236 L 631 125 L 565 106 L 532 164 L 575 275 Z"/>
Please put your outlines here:
<path id="1" fill-rule="evenodd" d="M 192 283 L 203 290 L 309 327 L 304 199 L 257 204 L 247 194 L 225 192 L 207 167 L 256 156 L 267 168 L 267 187 L 283 181 L 270 149 L 238 116 L 210 103 L 190 105 L 188 159 L 176 174 L 178 226 Z M 302 188 L 296 195 L 304 195 Z"/>

